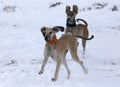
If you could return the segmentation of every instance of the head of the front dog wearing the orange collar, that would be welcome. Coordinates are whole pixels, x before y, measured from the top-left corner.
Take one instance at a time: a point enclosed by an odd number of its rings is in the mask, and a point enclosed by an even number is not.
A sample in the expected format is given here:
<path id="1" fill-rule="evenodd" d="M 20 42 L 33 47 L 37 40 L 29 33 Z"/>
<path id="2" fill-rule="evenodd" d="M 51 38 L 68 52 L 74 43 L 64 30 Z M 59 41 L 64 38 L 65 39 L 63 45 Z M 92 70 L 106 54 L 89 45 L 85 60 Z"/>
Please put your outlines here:
<path id="1" fill-rule="evenodd" d="M 42 32 L 42 34 L 44 36 L 44 39 L 46 41 L 52 40 L 56 36 L 56 33 L 58 31 L 62 31 L 63 32 L 64 31 L 64 27 L 62 27 L 62 26 L 55 26 L 53 28 L 49 28 L 49 27 L 42 27 L 41 28 L 41 32 Z"/>

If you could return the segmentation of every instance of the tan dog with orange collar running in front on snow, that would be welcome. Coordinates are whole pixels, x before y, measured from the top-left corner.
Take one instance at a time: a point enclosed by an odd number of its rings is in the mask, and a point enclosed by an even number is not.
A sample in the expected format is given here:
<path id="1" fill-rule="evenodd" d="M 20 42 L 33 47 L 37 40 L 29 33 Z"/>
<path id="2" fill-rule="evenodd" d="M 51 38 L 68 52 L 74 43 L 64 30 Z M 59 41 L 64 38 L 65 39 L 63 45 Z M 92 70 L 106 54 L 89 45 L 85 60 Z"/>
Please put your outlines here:
<path id="1" fill-rule="evenodd" d="M 56 33 L 58 31 L 64 31 L 64 27 L 61 26 L 55 26 L 53 28 L 49 27 L 42 27 L 41 32 L 44 36 L 44 39 L 46 41 L 45 49 L 44 49 L 44 60 L 42 62 L 41 69 L 39 71 L 39 74 L 42 74 L 44 71 L 44 67 L 47 64 L 48 57 L 51 57 L 53 60 L 55 60 L 56 63 L 56 70 L 54 73 L 54 77 L 51 79 L 52 81 L 56 81 L 58 79 L 58 73 L 61 64 L 63 64 L 67 70 L 67 79 L 70 78 L 70 69 L 66 62 L 66 54 L 68 50 L 70 51 L 70 54 L 72 58 L 81 65 L 83 71 L 87 73 L 87 69 L 85 68 L 83 61 L 81 61 L 77 55 L 77 44 L 74 41 L 74 37 L 79 37 L 86 40 L 91 40 L 91 38 L 84 38 L 81 36 L 72 36 L 70 33 L 63 34 L 59 39 L 56 38 Z"/>

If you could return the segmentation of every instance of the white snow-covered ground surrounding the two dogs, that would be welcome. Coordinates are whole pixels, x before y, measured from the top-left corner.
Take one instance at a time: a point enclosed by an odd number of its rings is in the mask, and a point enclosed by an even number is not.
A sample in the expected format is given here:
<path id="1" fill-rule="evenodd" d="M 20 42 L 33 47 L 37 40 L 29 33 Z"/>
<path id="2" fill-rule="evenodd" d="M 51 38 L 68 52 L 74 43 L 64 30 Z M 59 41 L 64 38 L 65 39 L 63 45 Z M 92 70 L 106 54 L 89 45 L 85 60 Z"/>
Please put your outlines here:
<path id="1" fill-rule="evenodd" d="M 119 0 L 0 0 L 0 87 L 119 87 L 120 86 L 120 1 Z M 95 3 L 107 5 L 96 9 Z M 85 59 L 82 46 L 78 55 L 88 69 L 84 74 L 69 53 L 67 62 L 71 77 L 62 66 L 59 79 L 51 81 L 55 62 L 49 59 L 45 72 L 38 75 L 43 60 L 45 41 L 40 32 L 43 26 L 66 25 L 66 5 L 79 7 L 77 18 L 86 20 L 90 35 Z M 3 10 L 5 6 L 15 7 Z M 111 11 L 117 6 L 118 11 Z M 85 9 L 84 9 L 85 8 Z M 91 8 L 88 10 L 87 8 Z M 58 33 L 57 36 L 61 36 Z M 81 42 L 81 40 L 79 41 Z"/>

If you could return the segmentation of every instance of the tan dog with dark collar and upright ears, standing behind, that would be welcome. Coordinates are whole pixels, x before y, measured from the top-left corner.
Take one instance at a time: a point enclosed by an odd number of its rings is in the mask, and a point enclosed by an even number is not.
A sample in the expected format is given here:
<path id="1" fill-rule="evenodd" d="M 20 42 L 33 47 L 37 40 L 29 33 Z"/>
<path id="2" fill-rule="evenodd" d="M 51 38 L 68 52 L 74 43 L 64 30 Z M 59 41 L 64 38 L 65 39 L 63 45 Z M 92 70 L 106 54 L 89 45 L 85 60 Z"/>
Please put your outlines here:
<path id="1" fill-rule="evenodd" d="M 65 33 L 72 33 L 72 35 L 78 35 L 85 38 L 88 38 L 89 31 L 88 31 L 88 24 L 83 19 L 75 19 L 76 15 L 78 14 L 78 7 L 77 5 L 73 5 L 73 10 L 70 10 L 70 6 L 66 6 L 66 14 L 67 14 L 67 21 L 66 21 L 66 31 Z M 82 21 L 84 24 L 76 24 L 76 21 Z M 75 38 L 75 41 L 77 41 L 77 38 Z M 78 41 L 77 41 L 78 42 Z M 79 44 L 79 43 L 78 43 Z M 82 39 L 82 46 L 83 46 L 83 54 L 85 53 L 85 47 L 86 47 L 86 40 Z"/>

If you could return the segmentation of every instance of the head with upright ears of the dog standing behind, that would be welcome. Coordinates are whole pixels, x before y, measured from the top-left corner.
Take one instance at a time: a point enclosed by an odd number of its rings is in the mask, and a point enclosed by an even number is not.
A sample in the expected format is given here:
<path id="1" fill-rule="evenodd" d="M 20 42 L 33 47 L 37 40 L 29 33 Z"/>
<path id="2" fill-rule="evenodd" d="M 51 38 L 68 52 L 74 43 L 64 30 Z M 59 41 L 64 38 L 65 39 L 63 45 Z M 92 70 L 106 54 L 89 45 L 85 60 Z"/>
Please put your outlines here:
<path id="1" fill-rule="evenodd" d="M 73 10 L 70 10 L 70 6 L 66 6 L 66 14 L 68 21 L 74 21 L 76 15 L 78 14 L 78 7 L 77 5 L 73 5 Z"/>

